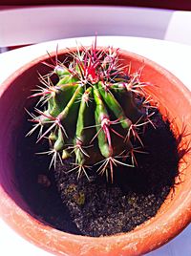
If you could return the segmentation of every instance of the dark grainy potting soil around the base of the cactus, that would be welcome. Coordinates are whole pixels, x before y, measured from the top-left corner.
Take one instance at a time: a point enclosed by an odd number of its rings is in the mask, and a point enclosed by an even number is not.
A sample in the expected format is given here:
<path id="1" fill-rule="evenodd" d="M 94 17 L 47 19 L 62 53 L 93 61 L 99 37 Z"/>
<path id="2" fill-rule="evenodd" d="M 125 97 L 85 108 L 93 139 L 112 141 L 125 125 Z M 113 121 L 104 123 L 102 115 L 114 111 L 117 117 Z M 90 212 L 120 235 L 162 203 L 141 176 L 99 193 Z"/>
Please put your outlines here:
<path id="1" fill-rule="evenodd" d="M 93 171 L 91 181 L 85 176 L 77 181 L 75 172 L 66 173 L 71 159 L 47 171 L 48 157 L 34 154 L 43 151 L 42 144 L 35 145 L 33 136 L 25 139 L 18 150 L 24 162 L 18 156 L 17 179 L 30 213 L 44 224 L 87 236 L 127 232 L 155 216 L 175 185 L 179 154 L 168 121 L 157 113 L 153 122 L 156 129 L 147 125 L 141 138 L 145 153 L 136 154 L 138 166 L 117 166 L 113 183 Z"/>

